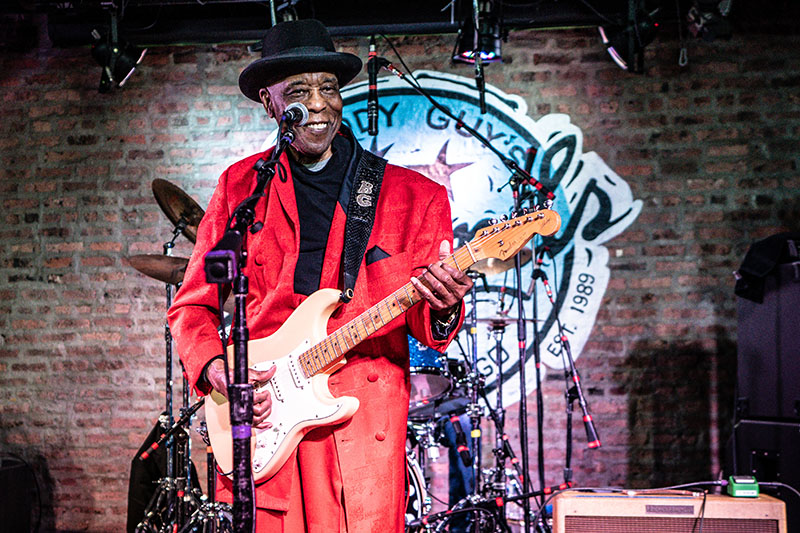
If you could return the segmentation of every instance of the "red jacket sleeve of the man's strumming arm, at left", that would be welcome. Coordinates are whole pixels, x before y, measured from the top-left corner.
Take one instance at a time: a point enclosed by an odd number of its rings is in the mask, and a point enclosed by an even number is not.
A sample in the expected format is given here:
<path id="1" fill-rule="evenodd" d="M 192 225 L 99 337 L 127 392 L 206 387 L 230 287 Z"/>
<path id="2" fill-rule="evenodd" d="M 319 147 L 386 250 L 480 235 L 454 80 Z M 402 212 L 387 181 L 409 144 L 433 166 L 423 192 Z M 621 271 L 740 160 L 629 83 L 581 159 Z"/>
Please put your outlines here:
<path id="1" fill-rule="evenodd" d="M 203 368 L 211 359 L 223 353 L 217 329 L 217 286 L 206 283 L 203 259 L 225 232 L 229 216 L 226 194 L 228 172 L 226 170 L 220 177 L 205 216 L 198 226 L 197 243 L 189 259 L 183 285 L 167 313 L 178 355 L 189 383 L 198 394 L 210 392 L 205 380 L 200 380 Z M 225 296 L 227 297 L 227 292 Z"/>

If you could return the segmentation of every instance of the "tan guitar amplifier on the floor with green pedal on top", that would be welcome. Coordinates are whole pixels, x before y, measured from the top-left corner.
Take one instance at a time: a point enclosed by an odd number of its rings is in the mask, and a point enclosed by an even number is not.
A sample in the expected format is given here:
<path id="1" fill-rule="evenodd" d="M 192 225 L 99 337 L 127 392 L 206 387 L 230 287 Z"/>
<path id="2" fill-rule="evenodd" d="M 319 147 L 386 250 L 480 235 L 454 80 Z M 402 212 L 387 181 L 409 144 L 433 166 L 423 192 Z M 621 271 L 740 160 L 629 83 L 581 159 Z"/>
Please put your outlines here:
<path id="1" fill-rule="evenodd" d="M 702 526 L 701 526 L 702 523 Z M 569 491 L 553 502 L 554 533 L 787 533 L 785 504 L 767 495 Z"/>

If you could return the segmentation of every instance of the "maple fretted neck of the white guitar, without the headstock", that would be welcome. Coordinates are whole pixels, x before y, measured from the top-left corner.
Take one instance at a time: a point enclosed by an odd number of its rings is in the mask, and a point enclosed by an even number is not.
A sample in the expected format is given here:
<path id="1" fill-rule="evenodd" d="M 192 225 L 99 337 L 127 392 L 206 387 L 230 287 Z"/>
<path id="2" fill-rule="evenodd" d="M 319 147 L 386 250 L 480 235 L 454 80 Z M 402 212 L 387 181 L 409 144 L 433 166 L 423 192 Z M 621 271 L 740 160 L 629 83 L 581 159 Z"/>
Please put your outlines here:
<path id="1" fill-rule="evenodd" d="M 466 244 L 443 262 L 463 272 L 475 264 L 476 261 L 470 245 Z M 424 280 L 420 279 L 420 281 L 430 288 Z M 414 285 L 411 282 L 406 283 L 302 353 L 298 358 L 298 362 L 303 373 L 306 377 L 311 377 L 330 368 L 339 362 L 347 352 L 377 333 L 381 328 L 411 309 L 421 300 L 422 296 Z"/>

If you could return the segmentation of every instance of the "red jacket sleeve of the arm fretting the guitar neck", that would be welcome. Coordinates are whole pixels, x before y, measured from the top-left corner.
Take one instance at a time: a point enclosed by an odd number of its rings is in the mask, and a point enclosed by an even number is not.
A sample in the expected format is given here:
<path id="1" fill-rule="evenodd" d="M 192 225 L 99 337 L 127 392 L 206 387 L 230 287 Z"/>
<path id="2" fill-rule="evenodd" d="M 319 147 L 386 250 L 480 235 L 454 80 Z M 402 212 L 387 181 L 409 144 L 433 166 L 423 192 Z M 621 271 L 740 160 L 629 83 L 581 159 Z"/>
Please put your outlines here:
<path id="1" fill-rule="evenodd" d="M 450 217 L 450 201 L 447 198 L 447 189 L 438 185 L 436 192 L 431 195 L 430 202 L 424 206 L 421 213 L 420 231 L 414 240 L 414 271 L 412 275 L 421 274 L 428 265 L 439 260 L 439 245 L 443 240 L 453 247 L 453 221 Z M 458 324 L 452 329 L 446 339 L 436 339 L 433 336 L 431 324 L 431 307 L 423 301 L 408 311 L 406 324 L 411 335 L 424 345 L 439 352 L 444 352 L 453 341 L 461 323 L 464 320 L 464 302 L 461 302 Z"/>

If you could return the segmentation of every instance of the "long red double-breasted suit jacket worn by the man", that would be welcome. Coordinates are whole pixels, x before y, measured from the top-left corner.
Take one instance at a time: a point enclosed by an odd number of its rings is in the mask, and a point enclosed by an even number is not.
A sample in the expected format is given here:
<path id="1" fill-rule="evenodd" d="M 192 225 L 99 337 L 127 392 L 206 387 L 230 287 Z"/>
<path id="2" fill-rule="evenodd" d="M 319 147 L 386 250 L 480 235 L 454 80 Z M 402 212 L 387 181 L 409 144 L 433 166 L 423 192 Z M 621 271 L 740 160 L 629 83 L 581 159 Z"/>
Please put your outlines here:
<path id="1" fill-rule="evenodd" d="M 356 154 L 360 153 L 361 148 L 356 146 Z M 253 189 L 255 172 L 252 167 L 264 155 L 256 154 L 239 161 L 220 177 L 198 228 L 197 245 L 183 286 L 169 311 L 169 324 L 178 353 L 195 386 L 205 365 L 222 352 L 214 311 L 217 307 L 216 287 L 205 282 L 203 256 L 218 242 L 228 217 Z M 289 173 L 285 154 L 281 161 Z M 306 298 L 294 292 L 300 226 L 291 176 L 286 181 L 278 176 L 272 180 L 268 201 L 262 199 L 258 203 L 256 220 L 264 221 L 264 227 L 255 235 L 248 235 L 249 256 L 244 269 L 250 282 L 247 323 L 251 339 L 273 333 Z M 345 220 L 346 213 L 337 203 L 320 288 L 341 288 Z M 328 332 L 437 261 L 439 246 L 444 239 L 452 244 L 450 205 L 445 188 L 411 170 L 387 165 L 366 254 L 367 257 L 382 258 L 369 264 L 362 260 L 355 296 L 334 313 Z M 370 254 L 374 247 L 385 254 Z M 410 332 L 427 346 L 444 351 L 458 331 L 456 328 L 446 340 L 435 340 L 431 335 L 430 320 L 430 308 L 426 302 L 412 307 L 349 352 L 345 367 L 329 380 L 334 396 L 355 396 L 361 404 L 350 421 L 334 430 L 349 524 L 381 524 L 386 531 L 403 529 L 410 389 L 406 335 Z M 291 484 L 298 482 L 294 477 L 296 475 L 291 469 L 284 466 L 257 488 L 257 505 L 286 510 Z M 230 501 L 230 484 L 227 479 L 223 481 L 221 499 Z"/>

